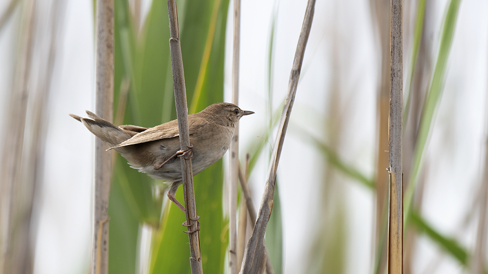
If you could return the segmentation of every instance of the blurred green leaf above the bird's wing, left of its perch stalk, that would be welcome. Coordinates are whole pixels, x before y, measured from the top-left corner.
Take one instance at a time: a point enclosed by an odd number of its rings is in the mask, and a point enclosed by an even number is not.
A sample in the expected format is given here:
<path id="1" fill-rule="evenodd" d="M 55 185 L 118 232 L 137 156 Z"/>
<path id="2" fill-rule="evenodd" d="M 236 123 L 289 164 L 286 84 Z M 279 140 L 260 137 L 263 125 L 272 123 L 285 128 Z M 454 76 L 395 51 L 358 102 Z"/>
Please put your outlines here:
<path id="1" fill-rule="evenodd" d="M 155 0 L 137 40 L 135 83 L 130 97 L 131 103 L 128 104 L 129 109 L 132 109 L 129 117 L 144 127 L 153 127 L 176 119 L 169 38 L 167 3 Z M 164 112 L 172 114 L 166 115 L 169 119 L 162 119 Z M 137 121 L 138 119 L 141 121 Z"/>

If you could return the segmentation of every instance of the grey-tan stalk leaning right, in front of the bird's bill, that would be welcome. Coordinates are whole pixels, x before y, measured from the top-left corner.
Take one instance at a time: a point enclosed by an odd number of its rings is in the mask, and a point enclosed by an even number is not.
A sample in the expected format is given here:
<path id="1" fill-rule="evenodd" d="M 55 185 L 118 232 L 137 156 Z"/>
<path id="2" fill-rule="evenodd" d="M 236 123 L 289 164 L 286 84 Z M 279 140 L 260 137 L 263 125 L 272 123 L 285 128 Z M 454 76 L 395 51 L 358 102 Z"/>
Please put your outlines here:
<path id="1" fill-rule="evenodd" d="M 273 208 L 274 186 L 276 182 L 276 171 L 285 141 L 286 129 L 290 120 L 291 109 L 295 101 L 295 94 L 297 92 L 298 79 L 300 78 L 300 71 L 302 70 L 302 63 L 305 54 L 306 42 L 310 34 L 312 26 L 313 13 L 315 10 L 315 0 L 308 0 L 305 9 L 305 18 L 302 24 L 302 30 L 298 39 L 298 45 L 293 60 L 293 67 L 290 73 L 288 82 L 288 93 L 285 100 L 285 106 L 280 118 L 278 126 L 278 134 L 273 145 L 273 153 L 271 154 L 271 163 L 269 173 L 264 185 L 264 193 L 261 198 L 261 205 L 259 208 L 258 217 L 254 225 L 254 230 L 251 238 L 247 242 L 244 253 L 244 262 L 241 268 L 241 274 L 261 274 L 264 272 L 266 264 L 266 255 L 264 253 L 264 233 Z"/>

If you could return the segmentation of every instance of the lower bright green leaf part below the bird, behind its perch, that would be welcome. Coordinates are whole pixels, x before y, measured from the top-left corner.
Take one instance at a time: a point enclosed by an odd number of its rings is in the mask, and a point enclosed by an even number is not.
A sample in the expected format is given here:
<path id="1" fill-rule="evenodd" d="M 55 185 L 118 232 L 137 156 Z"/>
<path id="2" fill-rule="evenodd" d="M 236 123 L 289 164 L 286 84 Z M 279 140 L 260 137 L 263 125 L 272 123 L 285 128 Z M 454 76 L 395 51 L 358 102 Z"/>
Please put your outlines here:
<path id="1" fill-rule="evenodd" d="M 213 168 L 212 168 L 213 167 Z M 200 216 L 200 251 L 205 273 L 223 273 L 227 238 L 222 238 L 225 226 L 222 215 L 222 160 L 194 177 L 197 215 Z M 183 187 L 176 198 L 183 203 Z M 190 273 L 188 235 L 183 233 L 184 213 L 170 204 L 167 222 L 162 222 L 153 241 L 149 273 Z"/>

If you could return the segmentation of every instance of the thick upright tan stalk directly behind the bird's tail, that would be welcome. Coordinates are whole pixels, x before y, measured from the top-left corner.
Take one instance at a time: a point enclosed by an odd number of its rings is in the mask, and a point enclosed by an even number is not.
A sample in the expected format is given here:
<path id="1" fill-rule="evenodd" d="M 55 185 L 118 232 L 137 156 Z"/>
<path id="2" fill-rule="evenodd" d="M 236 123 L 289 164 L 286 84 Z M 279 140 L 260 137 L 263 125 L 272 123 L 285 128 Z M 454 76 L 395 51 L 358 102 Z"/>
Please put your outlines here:
<path id="1" fill-rule="evenodd" d="M 97 0 L 95 112 L 113 120 L 114 101 L 114 1 Z M 108 198 L 112 153 L 95 139 L 95 229 L 92 242 L 92 273 L 108 274 Z"/>

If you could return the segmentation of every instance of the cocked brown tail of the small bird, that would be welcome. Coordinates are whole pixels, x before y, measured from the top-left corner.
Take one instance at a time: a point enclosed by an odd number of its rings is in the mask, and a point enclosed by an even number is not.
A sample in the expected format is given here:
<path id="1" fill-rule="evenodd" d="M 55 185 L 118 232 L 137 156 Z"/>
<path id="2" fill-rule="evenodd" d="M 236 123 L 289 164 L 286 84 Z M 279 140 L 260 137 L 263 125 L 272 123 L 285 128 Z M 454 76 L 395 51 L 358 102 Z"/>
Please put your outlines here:
<path id="1" fill-rule="evenodd" d="M 138 133 L 117 127 L 90 111 L 86 111 L 86 114 L 90 118 L 82 118 L 74 114 L 70 114 L 69 116 L 82 122 L 91 133 L 102 139 L 105 143 L 108 143 L 110 146 L 116 146 Z"/>

